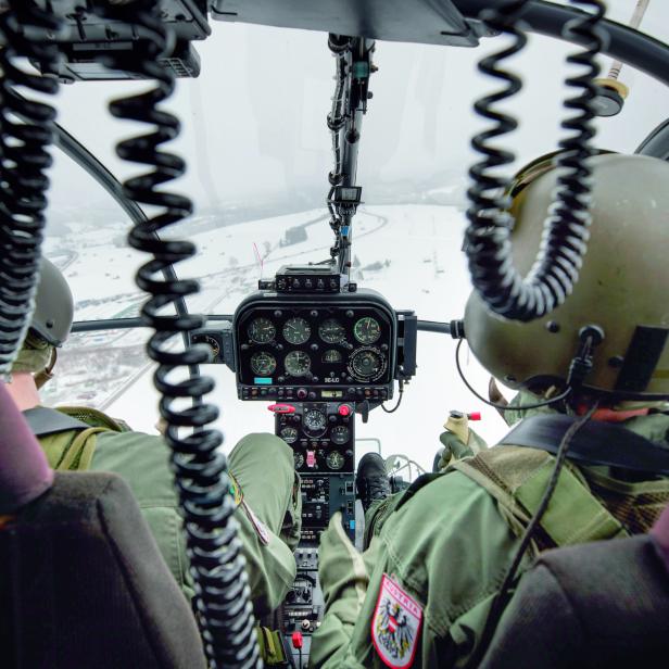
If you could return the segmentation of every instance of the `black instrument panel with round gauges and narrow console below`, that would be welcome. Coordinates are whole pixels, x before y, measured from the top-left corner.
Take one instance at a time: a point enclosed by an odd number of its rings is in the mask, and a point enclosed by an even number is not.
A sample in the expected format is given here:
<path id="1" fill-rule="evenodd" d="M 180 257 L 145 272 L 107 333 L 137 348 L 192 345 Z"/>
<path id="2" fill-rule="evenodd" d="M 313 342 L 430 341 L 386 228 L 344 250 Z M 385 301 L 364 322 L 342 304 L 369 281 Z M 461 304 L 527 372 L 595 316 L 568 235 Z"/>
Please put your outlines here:
<path id="1" fill-rule="evenodd" d="M 328 277 L 333 277 L 331 280 Z M 227 330 L 193 341 L 237 376 L 240 400 L 267 402 L 275 433 L 292 450 L 302 481 L 298 577 L 282 607 L 282 631 L 295 666 L 308 657 L 324 613 L 318 542 L 340 513 L 356 538 L 355 416 L 393 396 L 415 371 L 417 319 L 335 270 L 283 267 L 238 306 Z M 299 643 L 295 643 L 295 635 Z M 299 647 L 301 646 L 301 647 Z"/>

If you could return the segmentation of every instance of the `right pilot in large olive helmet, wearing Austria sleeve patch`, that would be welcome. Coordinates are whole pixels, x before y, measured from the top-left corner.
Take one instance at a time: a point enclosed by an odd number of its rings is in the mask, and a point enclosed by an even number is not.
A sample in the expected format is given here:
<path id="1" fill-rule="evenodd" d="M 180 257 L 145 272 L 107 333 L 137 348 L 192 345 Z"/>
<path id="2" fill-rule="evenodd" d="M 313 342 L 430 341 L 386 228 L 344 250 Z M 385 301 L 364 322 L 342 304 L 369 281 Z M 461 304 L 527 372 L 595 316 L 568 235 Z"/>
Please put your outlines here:
<path id="1" fill-rule="evenodd" d="M 505 413 L 523 420 L 500 445 L 397 495 L 382 463 L 364 458 L 365 551 L 335 517 L 321 537 L 326 614 L 310 667 L 476 667 L 507 592 L 537 554 L 646 532 L 669 502 L 669 164 L 616 154 L 591 161 L 591 239 L 565 304 L 517 323 L 490 313 L 477 294 L 467 303 L 467 342 L 493 376 L 521 390 Z M 523 274 L 555 179 L 548 157 L 512 190 L 514 261 Z M 566 399 L 522 409 L 560 395 L 575 361 L 592 368 Z M 515 558 L 517 578 L 501 592 Z"/>

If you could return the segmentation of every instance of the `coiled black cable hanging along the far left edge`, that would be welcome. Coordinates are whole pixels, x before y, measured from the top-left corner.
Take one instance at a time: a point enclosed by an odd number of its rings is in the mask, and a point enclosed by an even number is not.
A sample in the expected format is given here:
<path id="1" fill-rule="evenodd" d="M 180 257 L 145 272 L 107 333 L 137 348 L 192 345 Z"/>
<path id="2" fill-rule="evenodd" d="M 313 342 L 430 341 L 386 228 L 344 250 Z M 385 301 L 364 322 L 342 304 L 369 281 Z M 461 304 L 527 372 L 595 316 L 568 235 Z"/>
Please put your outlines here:
<path id="1" fill-rule="evenodd" d="M 15 89 L 55 94 L 59 86 L 55 77 L 23 70 L 17 59 L 54 72 L 59 51 L 48 35 L 60 30 L 60 20 L 33 0 L 10 0 L 0 14 L 5 43 L 0 49 L 0 375 L 11 370 L 30 324 L 55 119 L 51 105 L 21 97 Z"/>

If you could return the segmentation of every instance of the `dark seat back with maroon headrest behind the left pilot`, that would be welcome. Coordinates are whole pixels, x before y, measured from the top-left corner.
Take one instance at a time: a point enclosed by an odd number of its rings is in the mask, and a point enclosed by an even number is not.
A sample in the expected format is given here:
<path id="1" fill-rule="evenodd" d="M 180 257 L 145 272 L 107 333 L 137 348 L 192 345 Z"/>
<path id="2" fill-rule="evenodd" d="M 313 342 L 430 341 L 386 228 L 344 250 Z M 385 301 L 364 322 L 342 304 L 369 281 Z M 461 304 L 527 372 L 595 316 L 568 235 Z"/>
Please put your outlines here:
<path id="1" fill-rule="evenodd" d="M 203 668 L 190 605 L 128 485 L 53 475 L 8 402 L 0 383 L 0 666 Z"/>

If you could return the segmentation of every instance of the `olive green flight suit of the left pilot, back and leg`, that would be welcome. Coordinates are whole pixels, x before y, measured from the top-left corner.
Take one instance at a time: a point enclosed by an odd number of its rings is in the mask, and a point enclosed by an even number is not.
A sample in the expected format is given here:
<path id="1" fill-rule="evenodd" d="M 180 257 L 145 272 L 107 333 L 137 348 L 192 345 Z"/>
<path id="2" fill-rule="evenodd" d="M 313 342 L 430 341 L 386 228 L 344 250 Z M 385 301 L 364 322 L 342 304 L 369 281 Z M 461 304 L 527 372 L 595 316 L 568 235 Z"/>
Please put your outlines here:
<path id="1" fill-rule="evenodd" d="M 123 429 L 100 412 L 64 409 L 91 426 Z M 175 579 L 190 597 L 186 545 L 169 450 L 162 437 L 101 428 L 92 450 L 68 453 L 79 431 L 47 434 L 39 441 L 54 469 L 113 471 L 130 485 L 135 498 Z M 91 442 L 89 442 L 91 443 Z M 83 457 L 87 460 L 80 463 Z M 240 526 L 247 557 L 251 595 L 257 615 L 275 609 L 295 577 L 292 550 L 300 538 L 300 480 L 290 447 L 274 434 L 249 434 L 228 456 L 230 472 L 241 489 L 242 501 L 235 517 Z"/>

